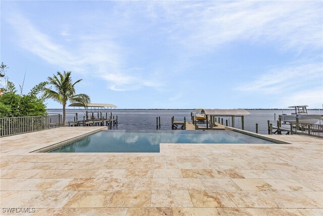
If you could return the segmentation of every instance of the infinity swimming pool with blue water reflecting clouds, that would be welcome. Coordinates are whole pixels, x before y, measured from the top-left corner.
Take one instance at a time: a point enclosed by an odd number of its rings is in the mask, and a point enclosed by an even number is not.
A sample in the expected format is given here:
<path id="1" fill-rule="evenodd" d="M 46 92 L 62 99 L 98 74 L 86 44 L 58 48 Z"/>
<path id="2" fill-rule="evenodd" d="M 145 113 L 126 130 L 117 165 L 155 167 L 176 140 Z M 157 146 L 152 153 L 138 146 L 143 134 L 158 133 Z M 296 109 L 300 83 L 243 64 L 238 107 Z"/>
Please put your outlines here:
<path id="1" fill-rule="evenodd" d="M 159 143 L 273 142 L 230 130 L 104 130 L 48 152 L 159 152 Z"/>

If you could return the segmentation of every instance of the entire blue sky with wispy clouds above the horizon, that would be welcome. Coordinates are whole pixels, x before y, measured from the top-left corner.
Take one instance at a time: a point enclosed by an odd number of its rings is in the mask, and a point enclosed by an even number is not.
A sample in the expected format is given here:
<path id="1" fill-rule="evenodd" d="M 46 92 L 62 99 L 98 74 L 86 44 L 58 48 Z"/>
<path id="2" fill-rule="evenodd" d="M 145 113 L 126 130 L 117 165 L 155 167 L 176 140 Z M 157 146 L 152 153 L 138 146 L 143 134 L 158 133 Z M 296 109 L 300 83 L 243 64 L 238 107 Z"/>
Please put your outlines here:
<path id="1" fill-rule="evenodd" d="M 321 1 L 1 1 L 1 61 L 25 93 L 72 71 L 120 109 L 321 108 L 322 20 Z"/>

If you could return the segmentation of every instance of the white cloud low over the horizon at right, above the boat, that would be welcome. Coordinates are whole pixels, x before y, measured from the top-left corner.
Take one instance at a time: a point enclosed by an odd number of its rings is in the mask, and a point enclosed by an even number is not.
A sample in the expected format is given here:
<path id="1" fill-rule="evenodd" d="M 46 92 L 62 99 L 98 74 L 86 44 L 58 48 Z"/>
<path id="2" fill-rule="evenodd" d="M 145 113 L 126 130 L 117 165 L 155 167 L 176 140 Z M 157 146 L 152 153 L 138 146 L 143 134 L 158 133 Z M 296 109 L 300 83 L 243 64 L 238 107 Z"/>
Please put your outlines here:
<path id="1" fill-rule="evenodd" d="M 235 90 L 275 98 L 276 107 L 306 104 L 317 108 L 323 103 L 322 63 L 277 66 Z"/>

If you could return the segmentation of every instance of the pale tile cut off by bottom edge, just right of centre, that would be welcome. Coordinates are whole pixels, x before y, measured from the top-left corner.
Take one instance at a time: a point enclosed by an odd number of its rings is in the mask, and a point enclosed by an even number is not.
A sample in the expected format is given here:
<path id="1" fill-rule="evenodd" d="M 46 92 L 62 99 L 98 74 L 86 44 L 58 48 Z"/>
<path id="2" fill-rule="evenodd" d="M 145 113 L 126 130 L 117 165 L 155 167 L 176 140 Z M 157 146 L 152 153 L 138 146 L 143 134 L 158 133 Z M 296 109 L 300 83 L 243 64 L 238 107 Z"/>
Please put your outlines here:
<path id="1" fill-rule="evenodd" d="M 188 207 L 174 207 L 173 208 L 174 216 L 185 216 L 185 215 L 220 215 L 217 208 L 188 208 Z"/>

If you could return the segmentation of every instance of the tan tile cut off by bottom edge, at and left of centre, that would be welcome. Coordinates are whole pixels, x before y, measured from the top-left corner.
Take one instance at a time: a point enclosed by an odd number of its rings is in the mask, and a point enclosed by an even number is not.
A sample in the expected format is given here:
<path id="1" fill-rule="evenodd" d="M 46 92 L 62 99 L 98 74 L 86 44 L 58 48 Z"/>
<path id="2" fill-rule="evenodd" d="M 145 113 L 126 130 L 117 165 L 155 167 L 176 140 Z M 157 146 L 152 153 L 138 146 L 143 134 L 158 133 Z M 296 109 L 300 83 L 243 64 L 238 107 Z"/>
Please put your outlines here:
<path id="1" fill-rule="evenodd" d="M 173 215 L 173 209 L 170 207 L 130 207 L 127 211 L 127 216 L 137 216 L 137 215 L 148 215 L 148 216 L 158 216 L 158 215 Z"/>

